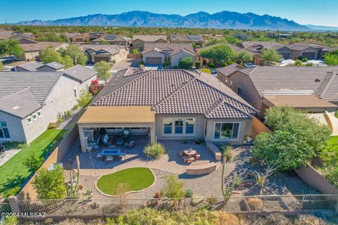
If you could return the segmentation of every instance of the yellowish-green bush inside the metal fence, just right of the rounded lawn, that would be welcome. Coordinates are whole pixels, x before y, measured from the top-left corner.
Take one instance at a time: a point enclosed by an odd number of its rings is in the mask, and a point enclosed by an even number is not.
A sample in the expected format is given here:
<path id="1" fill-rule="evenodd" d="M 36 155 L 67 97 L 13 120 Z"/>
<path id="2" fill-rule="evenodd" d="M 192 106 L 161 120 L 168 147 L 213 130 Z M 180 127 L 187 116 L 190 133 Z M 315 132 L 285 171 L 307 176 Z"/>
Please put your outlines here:
<path id="1" fill-rule="evenodd" d="M 174 198 L 178 200 L 184 198 L 186 191 L 183 186 L 184 183 L 179 181 L 175 175 L 165 176 L 166 186 L 161 190 L 163 196 L 167 198 Z"/>

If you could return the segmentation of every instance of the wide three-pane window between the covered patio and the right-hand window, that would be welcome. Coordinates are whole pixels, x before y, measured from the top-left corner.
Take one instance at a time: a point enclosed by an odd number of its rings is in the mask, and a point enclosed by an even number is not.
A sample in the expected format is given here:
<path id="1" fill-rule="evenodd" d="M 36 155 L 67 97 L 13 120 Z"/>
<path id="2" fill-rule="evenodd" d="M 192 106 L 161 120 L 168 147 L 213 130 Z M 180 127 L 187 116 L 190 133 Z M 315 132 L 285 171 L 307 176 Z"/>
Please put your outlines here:
<path id="1" fill-rule="evenodd" d="M 163 134 L 193 136 L 195 121 L 195 118 L 163 118 Z"/>

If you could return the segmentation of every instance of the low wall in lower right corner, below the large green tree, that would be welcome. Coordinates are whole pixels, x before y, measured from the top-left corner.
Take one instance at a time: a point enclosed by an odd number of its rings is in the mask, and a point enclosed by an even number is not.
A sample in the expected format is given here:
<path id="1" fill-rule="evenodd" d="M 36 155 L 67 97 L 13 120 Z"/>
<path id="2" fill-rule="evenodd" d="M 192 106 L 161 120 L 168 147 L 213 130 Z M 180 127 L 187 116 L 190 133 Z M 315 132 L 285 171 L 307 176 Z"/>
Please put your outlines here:
<path id="1" fill-rule="evenodd" d="M 338 189 L 327 181 L 315 168 L 311 167 L 311 165 L 308 164 L 306 167 L 294 169 L 294 172 L 311 188 L 315 188 L 324 194 L 338 194 Z"/>

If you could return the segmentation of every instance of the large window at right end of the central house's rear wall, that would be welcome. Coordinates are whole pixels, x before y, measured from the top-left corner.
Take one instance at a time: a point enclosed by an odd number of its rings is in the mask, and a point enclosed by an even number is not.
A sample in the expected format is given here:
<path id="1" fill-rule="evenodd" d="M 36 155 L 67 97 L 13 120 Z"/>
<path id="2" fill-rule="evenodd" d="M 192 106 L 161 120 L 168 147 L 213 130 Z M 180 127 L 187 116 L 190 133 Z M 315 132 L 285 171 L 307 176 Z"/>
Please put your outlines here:
<path id="1" fill-rule="evenodd" d="M 230 140 L 237 139 L 239 132 L 239 123 L 216 122 L 213 139 Z"/>

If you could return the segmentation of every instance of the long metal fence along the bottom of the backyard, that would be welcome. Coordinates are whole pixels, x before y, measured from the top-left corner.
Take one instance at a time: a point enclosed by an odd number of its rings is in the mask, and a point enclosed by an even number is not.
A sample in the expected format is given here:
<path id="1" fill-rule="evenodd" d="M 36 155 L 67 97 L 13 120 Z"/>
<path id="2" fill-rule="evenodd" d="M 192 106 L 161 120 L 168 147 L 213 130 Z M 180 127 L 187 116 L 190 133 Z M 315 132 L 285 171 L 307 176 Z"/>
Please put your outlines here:
<path id="1" fill-rule="evenodd" d="M 178 200 L 171 198 L 18 200 L 16 203 L 22 213 L 41 212 L 48 217 L 115 216 L 144 207 L 191 212 L 206 208 L 229 213 L 327 212 L 334 214 L 337 213 L 338 195 L 257 195 L 230 198 L 180 198 Z"/>

